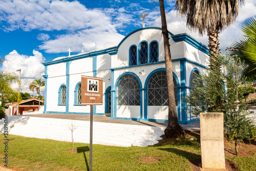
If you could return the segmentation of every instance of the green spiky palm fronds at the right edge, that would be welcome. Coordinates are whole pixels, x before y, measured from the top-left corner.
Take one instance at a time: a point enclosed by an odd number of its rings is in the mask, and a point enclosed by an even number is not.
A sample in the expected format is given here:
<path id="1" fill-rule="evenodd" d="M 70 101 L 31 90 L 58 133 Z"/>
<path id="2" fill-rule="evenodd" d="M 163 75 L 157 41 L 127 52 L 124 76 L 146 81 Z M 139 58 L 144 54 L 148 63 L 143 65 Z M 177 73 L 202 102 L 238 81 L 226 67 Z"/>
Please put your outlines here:
<path id="1" fill-rule="evenodd" d="M 256 80 L 256 18 L 251 17 L 242 24 L 242 39 L 236 41 L 229 48 L 232 56 L 238 56 L 241 60 L 240 66 L 244 70 L 242 76 L 247 77 L 247 81 L 254 82 Z"/>

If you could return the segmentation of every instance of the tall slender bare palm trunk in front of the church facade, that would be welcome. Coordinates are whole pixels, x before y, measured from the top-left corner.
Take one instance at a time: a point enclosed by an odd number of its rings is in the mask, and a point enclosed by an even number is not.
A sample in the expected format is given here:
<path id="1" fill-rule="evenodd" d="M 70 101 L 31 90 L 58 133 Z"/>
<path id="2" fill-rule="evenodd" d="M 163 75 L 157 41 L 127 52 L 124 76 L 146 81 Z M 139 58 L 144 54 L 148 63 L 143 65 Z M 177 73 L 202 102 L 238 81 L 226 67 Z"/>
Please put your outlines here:
<path id="1" fill-rule="evenodd" d="M 173 82 L 173 67 L 172 58 L 170 56 L 170 44 L 169 44 L 169 34 L 167 30 L 165 10 L 164 10 L 164 0 L 159 0 L 161 22 L 162 22 L 162 34 L 164 42 L 164 59 L 166 67 L 166 79 L 168 87 L 168 126 L 164 130 L 164 134 L 167 138 L 179 137 L 184 135 L 183 127 L 180 126 L 178 121 L 178 116 L 176 112 L 175 104 L 175 94 L 174 94 L 174 82 Z"/>

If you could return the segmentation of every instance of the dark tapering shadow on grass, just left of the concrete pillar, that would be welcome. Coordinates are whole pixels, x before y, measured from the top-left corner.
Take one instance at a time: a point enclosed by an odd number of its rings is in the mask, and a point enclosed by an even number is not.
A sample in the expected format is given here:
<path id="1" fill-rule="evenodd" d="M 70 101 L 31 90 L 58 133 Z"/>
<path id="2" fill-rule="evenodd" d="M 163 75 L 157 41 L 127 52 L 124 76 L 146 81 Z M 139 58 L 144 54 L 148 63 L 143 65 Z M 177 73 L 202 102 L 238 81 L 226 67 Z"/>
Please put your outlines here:
<path id="1" fill-rule="evenodd" d="M 182 157 L 186 158 L 190 163 L 197 165 L 197 166 L 200 164 L 199 161 L 201 161 L 201 155 L 186 152 L 181 149 L 177 149 L 177 148 L 158 148 L 158 149 L 160 149 L 162 151 L 170 152 L 170 153 L 175 153 L 179 156 L 182 156 Z"/>

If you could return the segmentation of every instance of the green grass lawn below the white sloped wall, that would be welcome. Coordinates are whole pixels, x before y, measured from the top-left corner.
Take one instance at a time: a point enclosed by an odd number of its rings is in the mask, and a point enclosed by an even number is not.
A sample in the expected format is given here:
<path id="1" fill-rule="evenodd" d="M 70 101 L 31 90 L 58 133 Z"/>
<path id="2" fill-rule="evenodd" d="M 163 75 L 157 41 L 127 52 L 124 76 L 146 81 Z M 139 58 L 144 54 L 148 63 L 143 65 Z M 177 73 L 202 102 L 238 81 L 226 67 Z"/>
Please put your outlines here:
<path id="1" fill-rule="evenodd" d="M 0 137 L 0 157 L 3 159 L 4 137 Z M 89 170 L 89 144 L 74 143 L 76 151 L 72 153 L 71 142 L 15 135 L 8 138 L 8 168 Z M 192 170 L 191 162 L 200 159 L 200 135 L 196 132 L 147 147 L 93 145 L 93 170 Z M 227 156 L 227 159 L 244 170 L 256 168 L 255 153 L 249 157 Z"/>

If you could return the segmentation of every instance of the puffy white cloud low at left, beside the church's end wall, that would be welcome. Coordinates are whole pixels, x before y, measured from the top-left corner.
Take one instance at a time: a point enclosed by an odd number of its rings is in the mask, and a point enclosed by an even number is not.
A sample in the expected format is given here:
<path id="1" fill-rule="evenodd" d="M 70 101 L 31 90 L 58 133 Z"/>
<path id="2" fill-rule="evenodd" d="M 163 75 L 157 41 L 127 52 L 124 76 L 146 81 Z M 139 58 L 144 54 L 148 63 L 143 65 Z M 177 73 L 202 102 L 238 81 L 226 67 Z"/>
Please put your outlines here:
<path id="1" fill-rule="evenodd" d="M 14 72 L 16 74 L 18 74 L 16 70 L 21 69 L 20 78 L 22 80 L 22 89 L 24 91 L 26 90 L 26 92 L 29 92 L 29 83 L 32 82 L 33 79 L 40 78 L 45 72 L 45 67 L 42 65 L 45 58 L 40 52 L 35 50 L 33 50 L 33 55 L 34 56 L 22 55 L 16 50 L 13 50 L 5 56 L 6 61 L 3 62 L 3 66 L 0 69 L 1 71 Z M 17 84 L 13 85 L 14 90 L 16 90 L 17 87 Z"/>

